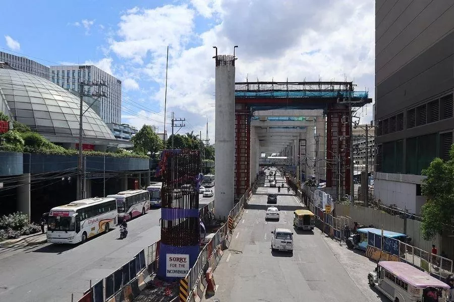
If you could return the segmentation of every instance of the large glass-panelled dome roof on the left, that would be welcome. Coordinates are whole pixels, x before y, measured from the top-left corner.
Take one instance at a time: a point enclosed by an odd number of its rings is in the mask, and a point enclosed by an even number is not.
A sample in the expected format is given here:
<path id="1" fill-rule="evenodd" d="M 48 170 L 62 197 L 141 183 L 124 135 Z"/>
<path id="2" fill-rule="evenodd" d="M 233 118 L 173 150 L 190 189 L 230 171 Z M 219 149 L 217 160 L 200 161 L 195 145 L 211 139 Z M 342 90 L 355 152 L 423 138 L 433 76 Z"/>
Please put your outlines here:
<path id="1" fill-rule="evenodd" d="M 54 143 L 74 148 L 79 142 L 80 99 L 50 81 L 0 68 L 0 103 L 14 120 Z M 85 102 L 83 110 L 83 143 L 99 150 L 118 145 L 107 125 Z"/>

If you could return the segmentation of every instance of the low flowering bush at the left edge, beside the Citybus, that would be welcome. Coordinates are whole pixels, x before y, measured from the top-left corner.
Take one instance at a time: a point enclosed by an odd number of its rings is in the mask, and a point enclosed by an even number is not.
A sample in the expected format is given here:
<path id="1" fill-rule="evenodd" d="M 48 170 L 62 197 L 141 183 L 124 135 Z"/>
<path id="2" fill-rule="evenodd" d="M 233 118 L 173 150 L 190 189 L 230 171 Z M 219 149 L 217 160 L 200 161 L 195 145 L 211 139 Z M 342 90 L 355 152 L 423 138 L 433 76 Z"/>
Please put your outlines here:
<path id="1" fill-rule="evenodd" d="M 41 232 L 39 225 L 28 222 L 28 215 L 16 212 L 0 217 L 0 241 Z"/>

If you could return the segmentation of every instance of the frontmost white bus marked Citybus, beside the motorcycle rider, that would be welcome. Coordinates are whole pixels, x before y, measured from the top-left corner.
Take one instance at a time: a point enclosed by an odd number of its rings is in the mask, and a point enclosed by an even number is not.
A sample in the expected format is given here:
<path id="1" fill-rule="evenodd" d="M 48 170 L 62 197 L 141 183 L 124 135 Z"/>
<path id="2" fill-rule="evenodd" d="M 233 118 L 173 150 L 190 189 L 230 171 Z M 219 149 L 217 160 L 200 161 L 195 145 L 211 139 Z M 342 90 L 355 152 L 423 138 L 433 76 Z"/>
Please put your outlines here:
<path id="1" fill-rule="evenodd" d="M 87 198 L 54 207 L 47 222 L 47 242 L 78 243 L 117 224 L 115 198 Z"/>

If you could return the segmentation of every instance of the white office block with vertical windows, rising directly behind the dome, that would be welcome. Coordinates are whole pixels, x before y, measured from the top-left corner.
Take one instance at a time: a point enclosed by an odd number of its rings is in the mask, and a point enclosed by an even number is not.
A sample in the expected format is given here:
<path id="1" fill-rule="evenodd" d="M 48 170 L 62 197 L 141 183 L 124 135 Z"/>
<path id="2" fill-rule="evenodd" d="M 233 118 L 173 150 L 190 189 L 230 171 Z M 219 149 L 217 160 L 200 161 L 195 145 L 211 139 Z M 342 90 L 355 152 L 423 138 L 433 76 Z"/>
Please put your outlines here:
<path id="1" fill-rule="evenodd" d="M 99 115 L 105 123 L 121 124 L 122 81 L 94 65 L 50 66 L 50 81 L 67 90 L 79 92 L 82 81 L 104 81 L 107 87 L 101 90 L 107 95 L 100 99 Z M 85 87 L 85 92 L 95 92 L 94 87 Z"/>

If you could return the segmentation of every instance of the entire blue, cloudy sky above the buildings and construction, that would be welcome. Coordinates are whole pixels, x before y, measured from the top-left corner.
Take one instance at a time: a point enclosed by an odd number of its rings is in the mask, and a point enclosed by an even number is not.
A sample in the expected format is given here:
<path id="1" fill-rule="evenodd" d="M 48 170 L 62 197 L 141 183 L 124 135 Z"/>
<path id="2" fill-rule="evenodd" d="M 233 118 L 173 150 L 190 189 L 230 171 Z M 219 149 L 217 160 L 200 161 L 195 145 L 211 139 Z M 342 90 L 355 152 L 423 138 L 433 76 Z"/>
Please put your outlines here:
<path id="1" fill-rule="evenodd" d="M 18 9 L 26 8 L 26 9 Z M 374 99 L 373 0 L 16 0 L 0 50 L 45 65 L 94 64 L 122 80 L 122 122 L 164 127 L 171 112 L 214 143 L 214 49 L 236 49 L 236 81 L 354 81 Z M 356 113 L 372 119 L 372 106 Z"/>

